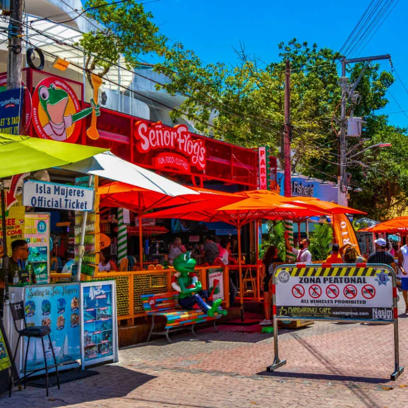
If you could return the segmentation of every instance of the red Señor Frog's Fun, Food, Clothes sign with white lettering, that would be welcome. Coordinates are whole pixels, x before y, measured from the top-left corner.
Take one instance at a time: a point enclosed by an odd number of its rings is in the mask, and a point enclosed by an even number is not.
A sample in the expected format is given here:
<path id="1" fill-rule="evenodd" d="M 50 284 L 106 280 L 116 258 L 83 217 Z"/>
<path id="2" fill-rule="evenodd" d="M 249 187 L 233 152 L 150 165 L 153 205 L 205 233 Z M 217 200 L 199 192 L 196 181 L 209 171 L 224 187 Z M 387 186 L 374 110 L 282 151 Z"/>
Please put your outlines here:
<path id="1" fill-rule="evenodd" d="M 162 122 L 135 123 L 136 147 L 139 152 L 167 149 L 154 157 L 155 168 L 173 168 L 184 172 L 190 171 L 190 166 L 205 170 L 207 149 L 202 139 L 192 139 L 185 124 L 174 127 L 165 126 Z"/>

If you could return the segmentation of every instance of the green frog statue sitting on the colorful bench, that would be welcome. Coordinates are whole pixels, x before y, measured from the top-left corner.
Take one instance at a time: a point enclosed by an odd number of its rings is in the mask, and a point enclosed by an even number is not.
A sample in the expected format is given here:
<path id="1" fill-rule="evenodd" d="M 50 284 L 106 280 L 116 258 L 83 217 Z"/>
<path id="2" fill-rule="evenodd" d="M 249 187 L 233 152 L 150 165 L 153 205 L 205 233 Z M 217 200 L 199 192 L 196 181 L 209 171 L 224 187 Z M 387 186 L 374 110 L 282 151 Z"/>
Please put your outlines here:
<path id="1" fill-rule="evenodd" d="M 179 304 L 183 309 L 193 309 L 198 304 L 203 313 L 213 317 L 215 313 L 226 315 L 226 310 L 221 308 L 222 299 L 211 301 L 210 293 L 202 290 L 201 282 L 194 274 L 195 259 L 190 252 L 181 253 L 173 261 L 177 271 L 171 277 L 171 287 L 179 292 Z"/>

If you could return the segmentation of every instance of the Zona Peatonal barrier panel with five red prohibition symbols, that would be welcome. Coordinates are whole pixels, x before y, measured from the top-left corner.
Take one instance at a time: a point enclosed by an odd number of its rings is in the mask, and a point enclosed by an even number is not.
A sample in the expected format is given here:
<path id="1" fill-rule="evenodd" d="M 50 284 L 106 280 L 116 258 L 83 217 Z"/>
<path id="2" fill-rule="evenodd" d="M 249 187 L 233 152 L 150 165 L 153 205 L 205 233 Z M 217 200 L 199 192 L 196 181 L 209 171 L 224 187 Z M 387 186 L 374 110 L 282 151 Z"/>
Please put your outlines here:
<path id="1" fill-rule="evenodd" d="M 387 265 L 281 265 L 274 271 L 276 316 L 288 319 L 394 321 Z"/>

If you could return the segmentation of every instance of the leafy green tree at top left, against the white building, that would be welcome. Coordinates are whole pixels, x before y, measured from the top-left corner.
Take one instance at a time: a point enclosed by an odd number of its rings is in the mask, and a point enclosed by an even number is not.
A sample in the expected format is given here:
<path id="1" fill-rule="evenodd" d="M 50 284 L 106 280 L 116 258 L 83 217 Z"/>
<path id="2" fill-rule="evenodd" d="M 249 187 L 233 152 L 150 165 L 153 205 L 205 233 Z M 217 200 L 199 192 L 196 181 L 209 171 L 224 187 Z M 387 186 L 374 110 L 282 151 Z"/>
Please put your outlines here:
<path id="1" fill-rule="evenodd" d="M 127 68 L 134 68 L 141 62 L 140 56 L 164 52 L 166 39 L 152 22 L 153 15 L 135 0 L 122 3 L 88 0 L 84 9 L 100 27 L 83 34 L 79 41 L 89 53 L 85 68 L 90 84 L 91 71 L 99 69 L 99 77 L 104 77 L 119 57 L 124 57 Z"/>

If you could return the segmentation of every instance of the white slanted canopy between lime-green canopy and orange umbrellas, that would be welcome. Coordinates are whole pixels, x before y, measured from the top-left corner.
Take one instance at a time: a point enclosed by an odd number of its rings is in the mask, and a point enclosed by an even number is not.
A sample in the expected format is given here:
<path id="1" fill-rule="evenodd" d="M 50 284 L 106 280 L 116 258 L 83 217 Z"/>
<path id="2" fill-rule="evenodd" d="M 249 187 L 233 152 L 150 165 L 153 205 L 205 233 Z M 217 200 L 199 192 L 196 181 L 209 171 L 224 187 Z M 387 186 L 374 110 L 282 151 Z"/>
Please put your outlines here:
<path id="1" fill-rule="evenodd" d="M 181 194 L 198 194 L 179 183 L 156 174 L 154 171 L 120 159 L 110 151 L 78 163 L 61 166 L 61 168 L 105 177 L 106 179 L 142 188 L 144 191 L 155 191 L 172 197 Z"/>

